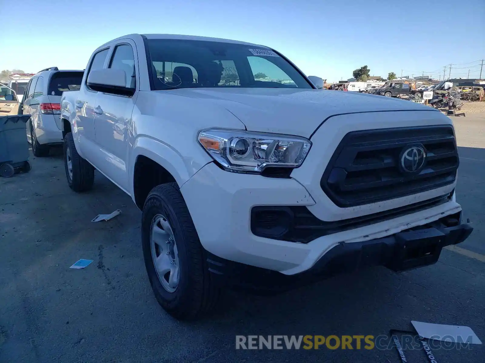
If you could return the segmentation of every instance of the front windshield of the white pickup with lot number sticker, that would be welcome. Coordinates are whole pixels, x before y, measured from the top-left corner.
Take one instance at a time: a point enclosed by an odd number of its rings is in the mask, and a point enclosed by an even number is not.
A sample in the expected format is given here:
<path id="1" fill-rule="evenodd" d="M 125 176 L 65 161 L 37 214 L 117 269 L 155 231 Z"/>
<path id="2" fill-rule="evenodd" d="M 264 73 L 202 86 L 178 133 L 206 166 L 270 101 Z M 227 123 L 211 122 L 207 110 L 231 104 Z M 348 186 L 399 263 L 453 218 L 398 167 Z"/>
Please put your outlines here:
<path id="1" fill-rule="evenodd" d="M 288 61 L 268 48 L 200 40 L 145 42 L 155 90 L 312 88 Z"/>

